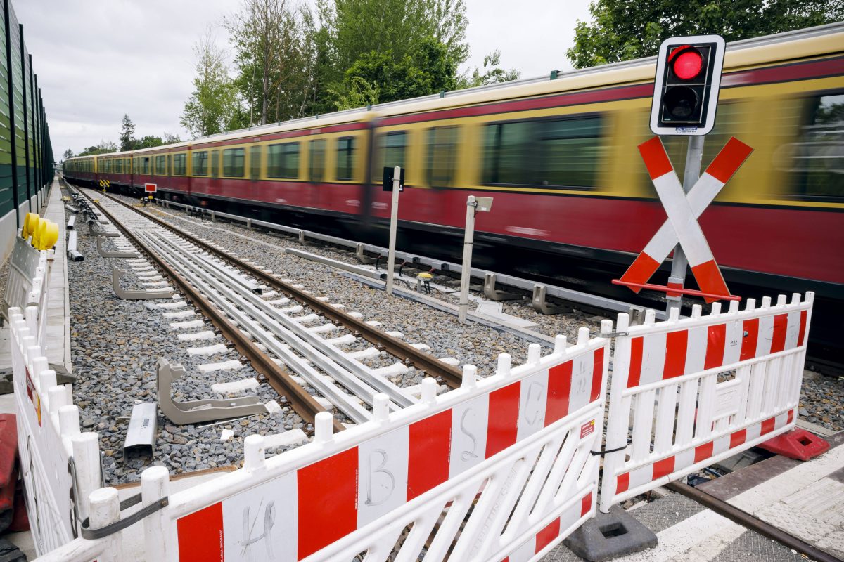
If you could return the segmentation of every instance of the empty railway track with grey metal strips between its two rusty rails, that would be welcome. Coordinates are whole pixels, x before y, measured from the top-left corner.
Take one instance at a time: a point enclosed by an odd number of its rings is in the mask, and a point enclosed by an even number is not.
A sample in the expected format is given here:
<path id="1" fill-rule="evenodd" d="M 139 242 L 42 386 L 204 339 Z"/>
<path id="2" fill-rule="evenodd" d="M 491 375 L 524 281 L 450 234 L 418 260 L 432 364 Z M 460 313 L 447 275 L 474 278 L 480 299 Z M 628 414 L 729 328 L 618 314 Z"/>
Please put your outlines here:
<path id="1" fill-rule="evenodd" d="M 387 394 L 391 409 L 416 403 L 414 388 L 401 388 L 390 380 L 407 371 L 405 361 L 452 387 L 459 385 L 457 367 L 425 353 L 424 345 L 408 345 L 398 334 L 378 329 L 376 323 L 367 323 L 302 286 L 181 233 L 122 201 L 100 194 L 95 199 L 95 192 L 82 193 L 178 286 L 303 419 L 312 423 L 325 409 L 324 404 L 330 403 L 338 413 L 335 428 L 341 430 L 344 422 L 371 418 L 376 393 Z M 286 296 L 276 297 L 279 292 Z M 347 333 L 335 335 L 340 329 L 335 322 Z M 377 348 L 343 351 L 359 338 Z M 381 368 L 365 364 L 381 351 L 398 361 Z M 297 383 L 288 369 L 305 385 Z"/>

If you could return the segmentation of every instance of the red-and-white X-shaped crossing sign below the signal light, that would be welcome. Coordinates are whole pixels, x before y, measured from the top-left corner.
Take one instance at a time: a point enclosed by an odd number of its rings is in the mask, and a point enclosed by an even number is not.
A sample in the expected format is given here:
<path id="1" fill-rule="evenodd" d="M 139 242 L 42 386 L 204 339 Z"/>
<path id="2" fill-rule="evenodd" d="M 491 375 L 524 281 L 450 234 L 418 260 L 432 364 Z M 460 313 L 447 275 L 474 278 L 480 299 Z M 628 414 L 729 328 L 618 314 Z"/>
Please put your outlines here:
<path id="1" fill-rule="evenodd" d="M 657 188 L 657 195 L 668 214 L 668 220 L 663 222 L 645 249 L 636 256 L 625 275 L 621 276 L 619 284 L 639 292 L 679 242 L 689 258 L 692 274 L 706 302 L 717 301 L 717 297 L 729 297 L 727 284 L 709 244 L 706 244 L 706 237 L 697 218 L 738 171 L 753 148 L 731 137 L 688 194 L 684 193 L 683 185 L 658 136 L 639 145 L 639 152 Z"/>

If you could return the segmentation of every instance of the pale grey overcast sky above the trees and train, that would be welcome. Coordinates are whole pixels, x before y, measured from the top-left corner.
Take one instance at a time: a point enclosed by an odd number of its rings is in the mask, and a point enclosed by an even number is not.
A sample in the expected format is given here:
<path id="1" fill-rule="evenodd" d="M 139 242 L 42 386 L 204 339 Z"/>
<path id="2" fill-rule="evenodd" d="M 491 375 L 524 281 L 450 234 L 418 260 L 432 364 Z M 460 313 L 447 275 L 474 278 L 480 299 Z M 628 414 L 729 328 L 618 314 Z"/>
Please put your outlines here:
<path id="1" fill-rule="evenodd" d="M 300 0 L 306 1 L 306 0 Z M 466 0 L 471 56 L 480 66 L 500 49 L 522 78 L 566 70 L 577 19 L 588 0 Z M 38 74 L 57 158 L 101 140 L 118 141 L 123 114 L 136 136 L 186 137 L 179 115 L 192 92 L 192 45 L 238 0 L 12 0 Z"/>

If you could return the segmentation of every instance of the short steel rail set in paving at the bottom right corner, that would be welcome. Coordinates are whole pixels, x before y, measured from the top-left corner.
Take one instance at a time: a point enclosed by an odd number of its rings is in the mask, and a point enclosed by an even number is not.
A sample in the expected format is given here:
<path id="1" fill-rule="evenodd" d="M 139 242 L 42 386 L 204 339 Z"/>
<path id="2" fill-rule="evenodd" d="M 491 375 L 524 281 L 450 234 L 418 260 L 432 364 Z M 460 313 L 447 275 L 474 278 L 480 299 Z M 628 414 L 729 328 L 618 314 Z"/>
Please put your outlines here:
<path id="1" fill-rule="evenodd" d="M 802 538 L 795 537 L 791 533 L 786 533 L 782 529 L 774 527 L 771 523 L 764 522 L 760 518 L 749 514 L 747 511 L 739 509 L 738 507 L 733 506 L 714 495 L 707 494 L 703 490 L 693 488 L 689 484 L 683 484 L 682 482 L 670 482 L 665 484 L 665 487 L 668 488 L 668 490 L 672 490 L 690 498 L 690 500 L 695 500 L 697 503 L 701 504 L 701 506 L 708 507 L 712 511 L 715 511 L 718 515 L 727 517 L 730 521 L 736 522 L 742 527 L 754 531 L 755 533 L 759 533 L 763 537 L 775 540 L 787 549 L 796 550 L 798 554 L 808 556 L 810 559 L 817 560 L 817 562 L 841 562 L 841 559 L 838 557 L 817 548 L 813 544 L 807 543 Z"/>

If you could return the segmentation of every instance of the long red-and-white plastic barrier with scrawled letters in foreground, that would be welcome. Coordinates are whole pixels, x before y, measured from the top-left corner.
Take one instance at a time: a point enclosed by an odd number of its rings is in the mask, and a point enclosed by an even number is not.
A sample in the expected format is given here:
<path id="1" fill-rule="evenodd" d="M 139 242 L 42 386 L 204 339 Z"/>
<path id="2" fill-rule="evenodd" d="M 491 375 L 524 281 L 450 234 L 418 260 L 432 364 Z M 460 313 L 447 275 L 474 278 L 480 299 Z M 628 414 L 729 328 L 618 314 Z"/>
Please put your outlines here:
<path id="1" fill-rule="evenodd" d="M 605 321 L 603 329 L 612 329 Z M 169 497 L 143 519 L 143 559 L 193 560 L 536 560 L 597 504 L 598 450 L 609 340 L 588 339 L 436 395 L 423 383 L 420 404 L 389 413 L 379 396 L 374 420 L 332 435 L 317 415 L 305 446 L 265 459 L 262 436 L 248 436 L 245 463 Z M 142 475 L 143 505 L 167 495 L 165 468 Z M 91 496 L 114 520 L 116 492 Z M 96 507 L 95 507 L 96 504 Z M 111 510 L 111 511 L 110 511 Z M 93 526 L 93 525 L 92 525 Z M 134 556 L 134 558 L 130 558 Z M 508 558 L 509 557 L 509 558 Z M 116 533 L 77 539 L 41 559 L 140 559 Z"/>

